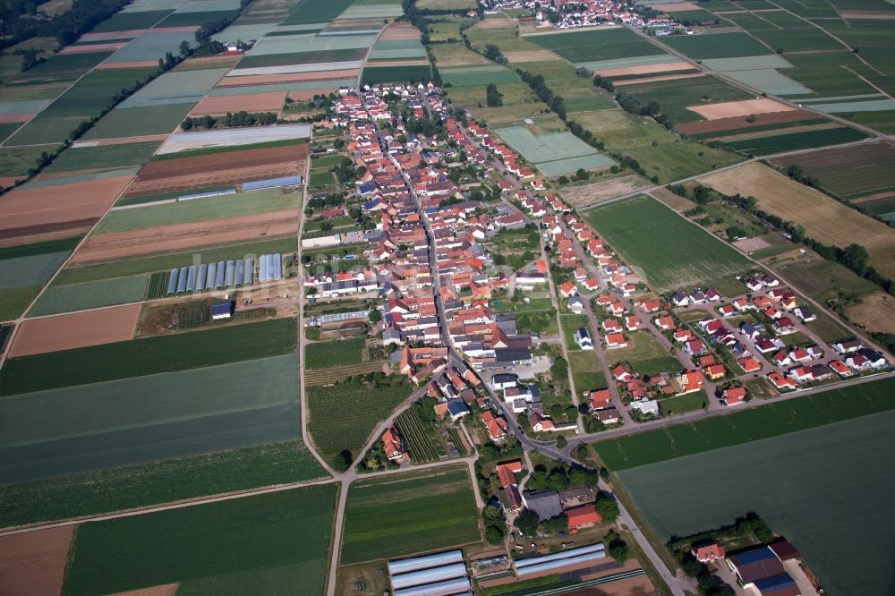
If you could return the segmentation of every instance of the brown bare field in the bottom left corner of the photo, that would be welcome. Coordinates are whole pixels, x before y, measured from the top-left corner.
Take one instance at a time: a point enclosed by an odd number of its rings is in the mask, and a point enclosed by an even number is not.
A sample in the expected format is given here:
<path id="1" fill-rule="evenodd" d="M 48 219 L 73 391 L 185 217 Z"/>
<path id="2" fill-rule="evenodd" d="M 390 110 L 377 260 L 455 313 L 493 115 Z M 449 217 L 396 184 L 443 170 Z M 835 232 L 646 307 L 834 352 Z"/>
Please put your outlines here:
<path id="1" fill-rule="evenodd" d="M 62 593 L 73 525 L 0 537 L 0 594 Z"/>

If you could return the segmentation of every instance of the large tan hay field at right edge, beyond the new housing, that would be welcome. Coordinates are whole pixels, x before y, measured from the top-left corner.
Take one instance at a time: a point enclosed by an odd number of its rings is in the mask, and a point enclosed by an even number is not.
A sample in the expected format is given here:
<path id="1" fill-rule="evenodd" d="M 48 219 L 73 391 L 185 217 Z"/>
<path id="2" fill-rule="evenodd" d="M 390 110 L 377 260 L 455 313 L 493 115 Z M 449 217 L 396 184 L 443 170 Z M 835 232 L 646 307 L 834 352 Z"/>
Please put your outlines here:
<path id="1" fill-rule="evenodd" d="M 824 244 L 864 245 L 870 264 L 884 277 L 895 277 L 895 230 L 849 209 L 823 192 L 790 180 L 758 163 L 708 175 L 700 180 L 725 194 L 754 196 L 760 209 L 805 226 L 805 232 Z"/>

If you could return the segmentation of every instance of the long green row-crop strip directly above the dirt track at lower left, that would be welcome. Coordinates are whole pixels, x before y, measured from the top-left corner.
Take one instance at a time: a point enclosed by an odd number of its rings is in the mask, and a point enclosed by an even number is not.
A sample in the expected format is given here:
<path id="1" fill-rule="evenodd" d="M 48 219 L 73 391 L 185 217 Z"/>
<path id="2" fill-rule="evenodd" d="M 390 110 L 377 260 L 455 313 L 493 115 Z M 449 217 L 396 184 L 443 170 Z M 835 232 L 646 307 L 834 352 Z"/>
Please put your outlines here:
<path id="1" fill-rule="evenodd" d="M 306 481 L 326 473 L 298 440 L 0 486 L 0 527 L 100 515 Z"/>

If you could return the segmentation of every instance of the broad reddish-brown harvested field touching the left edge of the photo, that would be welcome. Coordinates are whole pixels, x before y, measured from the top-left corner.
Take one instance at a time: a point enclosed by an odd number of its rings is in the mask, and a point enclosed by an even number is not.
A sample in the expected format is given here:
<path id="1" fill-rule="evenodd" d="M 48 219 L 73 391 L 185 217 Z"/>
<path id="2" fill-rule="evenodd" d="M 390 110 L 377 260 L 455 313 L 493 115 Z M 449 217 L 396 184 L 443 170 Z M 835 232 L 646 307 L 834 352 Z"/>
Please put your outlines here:
<path id="1" fill-rule="evenodd" d="M 53 186 L 15 189 L 0 202 L 0 238 L 83 227 L 102 217 L 131 180 L 115 176 L 66 184 L 64 195 Z"/>

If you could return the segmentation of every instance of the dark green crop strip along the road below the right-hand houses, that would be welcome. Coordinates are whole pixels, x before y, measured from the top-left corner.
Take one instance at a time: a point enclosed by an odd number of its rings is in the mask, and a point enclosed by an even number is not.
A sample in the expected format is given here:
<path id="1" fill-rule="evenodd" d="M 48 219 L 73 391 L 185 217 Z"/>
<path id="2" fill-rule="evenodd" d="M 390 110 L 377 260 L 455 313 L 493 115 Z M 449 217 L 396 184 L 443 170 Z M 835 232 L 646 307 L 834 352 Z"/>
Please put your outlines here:
<path id="1" fill-rule="evenodd" d="M 893 389 L 895 379 L 882 379 L 601 441 L 595 447 L 603 464 L 611 470 L 626 470 L 885 412 L 895 408 L 895 400 L 891 398 Z"/>

